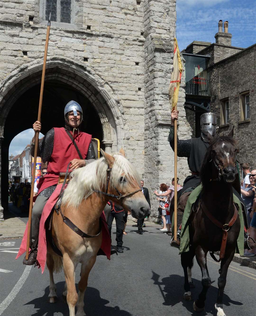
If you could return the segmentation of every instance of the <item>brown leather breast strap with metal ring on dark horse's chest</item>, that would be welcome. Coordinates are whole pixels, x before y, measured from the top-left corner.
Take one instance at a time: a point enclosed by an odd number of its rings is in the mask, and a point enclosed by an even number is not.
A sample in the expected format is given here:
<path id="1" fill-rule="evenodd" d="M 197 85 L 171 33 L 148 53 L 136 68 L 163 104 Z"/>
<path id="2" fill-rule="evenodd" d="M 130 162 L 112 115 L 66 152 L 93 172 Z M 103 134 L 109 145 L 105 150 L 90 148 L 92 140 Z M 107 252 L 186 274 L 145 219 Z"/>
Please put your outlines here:
<path id="1" fill-rule="evenodd" d="M 238 211 L 237 211 L 237 208 L 236 208 L 236 205 L 235 203 L 233 202 L 234 204 L 234 215 L 233 217 L 231 218 L 231 220 L 229 221 L 228 224 L 222 224 L 221 222 L 219 222 L 218 220 L 216 220 L 216 218 L 213 217 L 213 215 L 207 210 L 205 204 L 204 204 L 204 201 L 201 200 L 201 208 L 204 212 L 204 214 L 209 218 L 209 220 L 214 224 L 216 225 L 217 227 L 219 228 L 222 228 L 223 230 L 223 233 L 222 233 L 222 242 L 221 242 L 221 248 L 220 248 L 220 258 L 219 260 L 216 259 L 216 257 L 214 256 L 214 253 L 212 251 L 210 251 L 210 255 L 211 257 L 216 261 L 216 262 L 220 262 L 221 259 L 224 258 L 224 255 L 225 255 L 225 250 L 226 250 L 226 245 L 227 245 L 227 239 L 228 239 L 228 231 L 229 231 L 229 228 L 235 223 L 236 219 L 237 219 L 237 216 L 238 216 Z"/>

